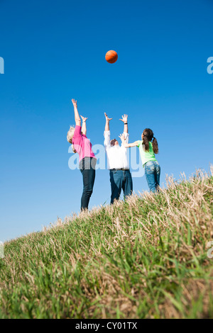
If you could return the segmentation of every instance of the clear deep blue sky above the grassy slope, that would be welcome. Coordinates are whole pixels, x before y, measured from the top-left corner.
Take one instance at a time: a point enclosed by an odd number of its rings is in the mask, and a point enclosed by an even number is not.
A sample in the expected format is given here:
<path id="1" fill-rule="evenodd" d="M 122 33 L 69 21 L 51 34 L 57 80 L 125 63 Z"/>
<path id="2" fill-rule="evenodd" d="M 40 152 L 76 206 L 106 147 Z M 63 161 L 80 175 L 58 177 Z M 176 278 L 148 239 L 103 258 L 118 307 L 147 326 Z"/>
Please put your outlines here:
<path id="1" fill-rule="evenodd" d="M 41 230 L 80 210 L 82 175 L 70 170 L 71 98 L 102 144 L 129 114 L 130 141 L 152 128 L 161 184 L 212 163 L 210 0 L 0 0 L 0 240 Z M 119 60 L 104 55 L 116 50 Z M 148 189 L 145 177 L 133 188 Z M 97 171 L 90 208 L 109 203 L 109 171 Z"/>

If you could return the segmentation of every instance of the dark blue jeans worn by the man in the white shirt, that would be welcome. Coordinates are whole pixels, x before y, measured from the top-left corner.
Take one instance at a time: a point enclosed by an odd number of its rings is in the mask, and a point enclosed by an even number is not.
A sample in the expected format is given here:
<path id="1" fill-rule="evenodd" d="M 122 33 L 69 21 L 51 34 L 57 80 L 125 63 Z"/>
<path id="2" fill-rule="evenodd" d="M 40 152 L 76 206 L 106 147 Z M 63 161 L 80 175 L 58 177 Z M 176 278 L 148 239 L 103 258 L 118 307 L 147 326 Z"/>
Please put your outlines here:
<path id="1" fill-rule="evenodd" d="M 118 200 L 121 194 L 121 189 L 124 191 L 124 198 L 131 196 L 133 184 L 131 173 L 129 170 L 110 170 L 111 182 L 111 203 Z"/>

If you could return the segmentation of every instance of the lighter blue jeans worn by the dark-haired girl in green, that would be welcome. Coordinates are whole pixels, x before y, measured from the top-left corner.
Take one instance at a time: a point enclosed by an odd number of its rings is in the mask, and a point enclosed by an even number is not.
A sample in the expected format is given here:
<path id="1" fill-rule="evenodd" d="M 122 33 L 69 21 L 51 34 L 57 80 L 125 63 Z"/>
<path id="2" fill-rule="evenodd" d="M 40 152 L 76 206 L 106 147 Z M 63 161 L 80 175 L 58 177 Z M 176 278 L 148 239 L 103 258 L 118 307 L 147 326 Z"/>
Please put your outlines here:
<path id="1" fill-rule="evenodd" d="M 160 165 L 157 161 L 148 161 L 145 164 L 145 174 L 151 192 L 158 191 L 160 186 Z"/>

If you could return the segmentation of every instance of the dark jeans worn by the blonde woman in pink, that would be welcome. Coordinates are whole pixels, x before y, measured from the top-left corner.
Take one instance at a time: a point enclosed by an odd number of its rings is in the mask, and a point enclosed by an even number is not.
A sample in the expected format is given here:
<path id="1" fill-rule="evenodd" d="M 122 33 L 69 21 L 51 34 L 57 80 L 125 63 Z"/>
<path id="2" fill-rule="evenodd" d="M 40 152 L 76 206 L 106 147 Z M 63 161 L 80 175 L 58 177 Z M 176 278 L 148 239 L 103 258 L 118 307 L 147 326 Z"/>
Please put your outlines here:
<path id="1" fill-rule="evenodd" d="M 83 176 L 84 189 L 82 193 L 81 210 L 88 209 L 89 199 L 92 196 L 94 178 L 95 178 L 95 166 L 97 160 L 93 157 L 84 157 L 80 161 L 79 167 Z"/>

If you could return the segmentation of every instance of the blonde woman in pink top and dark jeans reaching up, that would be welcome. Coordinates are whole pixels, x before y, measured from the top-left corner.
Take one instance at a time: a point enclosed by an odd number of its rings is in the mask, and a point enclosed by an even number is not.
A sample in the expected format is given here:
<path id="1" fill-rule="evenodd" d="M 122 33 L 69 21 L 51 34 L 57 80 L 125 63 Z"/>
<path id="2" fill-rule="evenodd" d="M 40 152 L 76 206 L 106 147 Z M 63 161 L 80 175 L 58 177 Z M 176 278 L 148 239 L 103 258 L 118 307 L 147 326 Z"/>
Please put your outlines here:
<path id="1" fill-rule="evenodd" d="M 88 209 L 89 199 L 92 196 L 94 179 L 95 179 L 95 166 L 97 159 L 92 152 L 92 145 L 87 138 L 87 118 L 81 118 L 77 111 L 77 101 L 72 99 L 75 113 L 75 128 L 70 126 L 70 130 L 67 132 L 67 141 L 71 143 L 73 152 L 79 154 L 79 167 L 83 176 L 83 193 L 81 200 L 81 210 Z"/>

